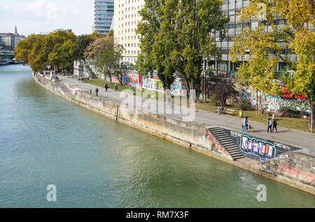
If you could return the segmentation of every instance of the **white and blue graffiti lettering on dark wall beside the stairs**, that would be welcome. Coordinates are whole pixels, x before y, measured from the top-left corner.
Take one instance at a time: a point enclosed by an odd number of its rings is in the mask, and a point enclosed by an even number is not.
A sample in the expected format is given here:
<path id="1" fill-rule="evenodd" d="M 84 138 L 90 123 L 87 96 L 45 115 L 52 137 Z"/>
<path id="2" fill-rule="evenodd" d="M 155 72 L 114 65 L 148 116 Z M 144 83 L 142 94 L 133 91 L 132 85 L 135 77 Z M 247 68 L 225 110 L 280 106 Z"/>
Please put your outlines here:
<path id="1" fill-rule="evenodd" d="M 250 138 L 248 135 L 241 135 L 240 148 L 245 154 L 258 156 L 261 161 L 276 158 L 276 147 L 271 142 Z"/>

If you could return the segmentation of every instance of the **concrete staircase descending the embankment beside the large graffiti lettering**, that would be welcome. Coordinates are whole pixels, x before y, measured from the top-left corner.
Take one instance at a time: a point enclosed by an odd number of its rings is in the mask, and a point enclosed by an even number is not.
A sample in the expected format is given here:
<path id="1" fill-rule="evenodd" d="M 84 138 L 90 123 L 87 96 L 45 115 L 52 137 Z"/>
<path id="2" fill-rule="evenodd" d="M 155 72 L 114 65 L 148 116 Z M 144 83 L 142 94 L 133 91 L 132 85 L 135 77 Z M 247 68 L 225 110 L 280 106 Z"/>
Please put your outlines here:
<path id="1" fill-rule="evenodd" d="M 216 128 L 209 128 L 208 129 L 212 135 L 218 140 L 218 142 L 224 147 L 226 151 L 234 158 L 236 161 L 239 158 L 244 158 L 245 155 L 243 152 L 235 145 L 235 143 L 231 140 L 231 138 L 228 136 L 225 131 L 223 131 L 222 128 L 216 127 Z"/>

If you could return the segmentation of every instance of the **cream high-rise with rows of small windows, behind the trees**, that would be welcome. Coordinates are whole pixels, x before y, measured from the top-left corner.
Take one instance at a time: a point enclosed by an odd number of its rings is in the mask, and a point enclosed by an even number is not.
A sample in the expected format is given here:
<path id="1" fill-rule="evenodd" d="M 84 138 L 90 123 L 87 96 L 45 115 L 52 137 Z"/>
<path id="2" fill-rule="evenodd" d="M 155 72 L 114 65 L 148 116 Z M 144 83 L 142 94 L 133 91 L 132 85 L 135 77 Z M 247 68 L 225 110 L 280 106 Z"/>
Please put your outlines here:
<path id="1" fill-rule="evenodd" d="M 123 61 L 135 64 L 140 53 L 140 35 L 136 34 L 141 22 L 139 10 L 144 7 L 144 0 L 115 0 L 114 38 L 123 45 Z"/>

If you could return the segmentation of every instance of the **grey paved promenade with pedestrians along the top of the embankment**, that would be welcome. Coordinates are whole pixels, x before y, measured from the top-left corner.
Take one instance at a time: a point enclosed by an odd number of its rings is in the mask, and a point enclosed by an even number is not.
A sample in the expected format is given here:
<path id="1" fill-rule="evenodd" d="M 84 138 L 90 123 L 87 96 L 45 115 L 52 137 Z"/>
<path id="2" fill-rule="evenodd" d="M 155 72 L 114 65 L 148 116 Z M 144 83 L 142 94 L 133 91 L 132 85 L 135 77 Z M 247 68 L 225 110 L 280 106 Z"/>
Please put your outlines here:
<path id="1" fill-rule="evenodd" d="M 95 89 L 99 89 L 99 96 L 109 98 L 113 101 L 122 102 L 125 98 L 120 98 L 120 92 L 109 89 L 105 91 L 102 87 L 97 87 L 93 84 L 79 82 L 78 79 L 71 79 L 59 76 L 60 82 L 65 84 L 71 84 L 72 86 L 78 87 L 85 91 L 95 94 Z M 161 102 L 159 102 L 161 103 Z M 165 105 L 164 103 L 161 105 Z M 173 105 L 174 108 L 174 105 Z M 144 109 L 146 110 L 146 109 Z M 180 114 L 165 114 L 165 116 L 172 117 L 174 119 L 182 120 L 182 115 Z M 232 117 L 230 115 L 218 115 L 213 112 L 206 112 L 203 110 L 197 110 L 195 120 L 192 121 L 194 124 L 202 124 L 204 126 L 218 126 L 222 128 L 228 128 L 230 130 L 235 130 L 241 132 L 241 118 Z M 278 127 L 278 133 L 267 133 L 267 125 L 258 122 L 253 122 L 249 119 L 248 124 L 253 126 L 255 130 L 253 133 L 248 133 L 248 135 L 253 135 L 254 137 L 262 138 L 265 140 L 274 140 L 284 145 L 292 145 L 294 147 L 302 148 L 303 153 L 315 156 L 315 135 L 311 133 L 305 133 L 302 131 L 295 131 L 289 128 Z"/>

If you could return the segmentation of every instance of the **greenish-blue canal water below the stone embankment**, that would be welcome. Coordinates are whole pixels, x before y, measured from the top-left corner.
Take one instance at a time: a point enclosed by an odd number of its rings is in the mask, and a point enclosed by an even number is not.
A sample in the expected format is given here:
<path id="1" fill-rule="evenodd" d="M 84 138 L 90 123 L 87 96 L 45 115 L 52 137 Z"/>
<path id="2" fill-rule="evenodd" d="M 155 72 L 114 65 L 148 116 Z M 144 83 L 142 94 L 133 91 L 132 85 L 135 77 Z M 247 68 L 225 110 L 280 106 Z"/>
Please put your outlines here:
<path id="1" fill-rule="evenodd" d="M 0 207 L 315 207 L 314 195 L 73 105 L 28 67 L 0 66 L 0 118 Z"/>

